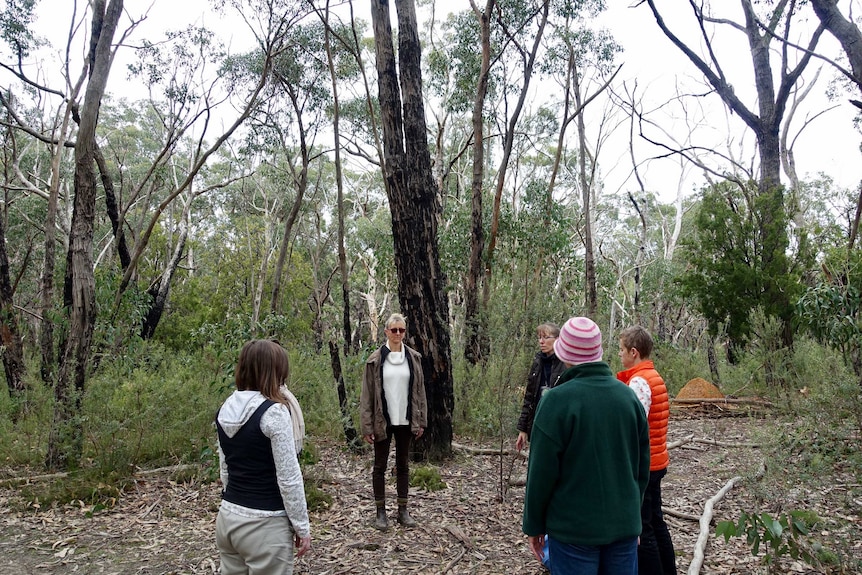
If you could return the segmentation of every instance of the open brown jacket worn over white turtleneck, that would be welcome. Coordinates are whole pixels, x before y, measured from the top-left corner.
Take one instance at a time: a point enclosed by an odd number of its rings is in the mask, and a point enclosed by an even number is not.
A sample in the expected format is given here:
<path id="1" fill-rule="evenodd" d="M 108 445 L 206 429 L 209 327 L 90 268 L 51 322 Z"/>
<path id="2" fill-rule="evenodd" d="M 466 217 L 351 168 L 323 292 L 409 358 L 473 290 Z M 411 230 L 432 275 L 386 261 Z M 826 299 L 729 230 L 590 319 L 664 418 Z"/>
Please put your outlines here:
<path id="1" fill-rule="evenodd" d="M 407 404 L 407 419 L 410 430 L 417 433 L 428 426 L 428 403 L 425 399 L 425 378 L 422 375 L 422 356 L 418 351 L 402 344 L 410 366 L 410 383 L 407 390 L 410 402 Z M 365 361 L 362 375 L 362 393 L 359 396 L 359 418 L 362 435 L 374 434 L 375 441 L 386 439 L 389 414 L 386 411 L 386 397 L 383 393 L 383 362 L 389 348 L 375 350 Z"/>

